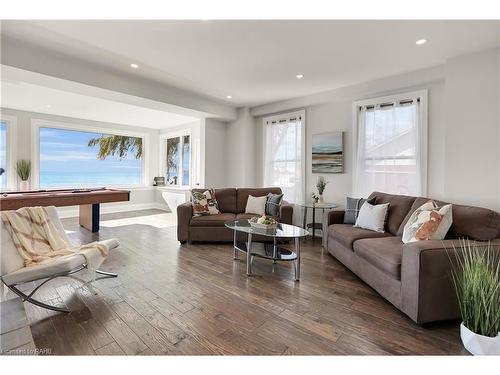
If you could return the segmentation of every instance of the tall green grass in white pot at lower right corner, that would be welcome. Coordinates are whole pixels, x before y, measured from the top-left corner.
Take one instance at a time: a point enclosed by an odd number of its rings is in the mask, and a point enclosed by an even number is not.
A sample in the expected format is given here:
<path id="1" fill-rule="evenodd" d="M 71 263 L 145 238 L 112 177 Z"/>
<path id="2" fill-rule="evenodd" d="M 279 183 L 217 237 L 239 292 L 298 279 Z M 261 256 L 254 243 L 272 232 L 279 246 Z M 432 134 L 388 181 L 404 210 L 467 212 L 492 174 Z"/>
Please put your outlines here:
<path id="1" fill-rule="evenodd" d="M 462 343 L 474 355 L 500 355 L 500 249 L 463 240 L 452 262 Z"/>

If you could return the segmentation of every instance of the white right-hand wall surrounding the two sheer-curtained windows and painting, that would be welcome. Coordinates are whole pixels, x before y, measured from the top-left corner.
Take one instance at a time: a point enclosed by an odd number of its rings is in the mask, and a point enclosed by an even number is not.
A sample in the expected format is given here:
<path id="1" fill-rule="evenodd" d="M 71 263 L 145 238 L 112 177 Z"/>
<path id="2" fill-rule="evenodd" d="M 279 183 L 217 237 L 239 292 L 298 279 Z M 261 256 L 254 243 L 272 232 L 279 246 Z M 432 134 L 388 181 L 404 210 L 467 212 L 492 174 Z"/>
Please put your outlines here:
<path id="1" fill-rule="evenodd" d="M 427 195 L 500 209 L 499 51 L 456 57 L 444 66 L 252 108 L 256 185 L 262 186 L 262 118 L 306 110 L 306 197 L 315 190 L 311 136 L 345 131 L 345 173 L 327 174 L 325 199 L 345 205 L 352 194 L 352 103 L 371 97 L 428 90 Z M 232 173 L 228 169 L 227 173 Z"/>

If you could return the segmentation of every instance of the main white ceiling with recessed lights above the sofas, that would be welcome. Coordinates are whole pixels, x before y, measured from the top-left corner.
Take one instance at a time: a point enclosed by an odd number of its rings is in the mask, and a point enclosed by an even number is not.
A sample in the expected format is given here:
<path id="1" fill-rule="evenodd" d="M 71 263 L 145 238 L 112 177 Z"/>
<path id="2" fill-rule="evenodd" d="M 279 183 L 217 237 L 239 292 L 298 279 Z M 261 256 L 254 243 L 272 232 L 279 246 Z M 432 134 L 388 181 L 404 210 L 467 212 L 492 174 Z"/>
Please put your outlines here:
<path id="1" fill-rule="evenodd" d="M 2 34 L 234 106 L 326 91 L 499 46 L 498 21 L 2 21 Z M 421 38 L 428 42 L 415 45 Z M 295 78 L 299 73 L 302 80 Z"/>

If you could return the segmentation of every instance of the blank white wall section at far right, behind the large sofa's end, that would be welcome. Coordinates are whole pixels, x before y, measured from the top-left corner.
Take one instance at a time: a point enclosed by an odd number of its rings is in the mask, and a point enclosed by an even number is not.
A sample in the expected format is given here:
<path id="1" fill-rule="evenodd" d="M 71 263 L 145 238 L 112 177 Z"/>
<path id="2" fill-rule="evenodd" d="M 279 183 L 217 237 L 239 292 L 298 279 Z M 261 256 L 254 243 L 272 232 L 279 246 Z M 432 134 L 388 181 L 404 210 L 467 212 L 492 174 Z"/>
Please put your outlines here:
<path id="1" fill-rule="evenodd" d="M 500 209 L 499 50 L 446 64 L 445 192 Z"/>

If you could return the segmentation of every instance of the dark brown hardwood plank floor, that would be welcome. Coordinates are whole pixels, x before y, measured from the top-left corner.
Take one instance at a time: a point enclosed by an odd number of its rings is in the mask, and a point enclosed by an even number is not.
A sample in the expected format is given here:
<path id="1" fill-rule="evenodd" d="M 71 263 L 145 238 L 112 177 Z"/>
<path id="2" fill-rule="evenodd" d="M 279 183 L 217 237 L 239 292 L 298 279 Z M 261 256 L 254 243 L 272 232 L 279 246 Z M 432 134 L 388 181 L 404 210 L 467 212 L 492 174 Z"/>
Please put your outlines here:
<path id="1" fill-rule="evenodd" d="M 262 259 L 247 278 L 231 244 L 181 246 L 172 220 L 147 220 L 160 214 L 103 215 L 99 234 L 63 220 L 74 242 L 120 240 L 101 267 L 119 277 L 96 281 L 97 294 L 69 278 L 42 287 L 40 299 L 73 312 L 25 304 L 37 348 L 80 355 L 466 353 L 458 322 L 414 324 L 319 240 L 302 246 L 300 282 L 291 264 Z"/>

